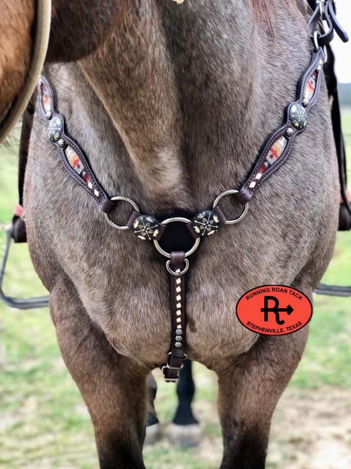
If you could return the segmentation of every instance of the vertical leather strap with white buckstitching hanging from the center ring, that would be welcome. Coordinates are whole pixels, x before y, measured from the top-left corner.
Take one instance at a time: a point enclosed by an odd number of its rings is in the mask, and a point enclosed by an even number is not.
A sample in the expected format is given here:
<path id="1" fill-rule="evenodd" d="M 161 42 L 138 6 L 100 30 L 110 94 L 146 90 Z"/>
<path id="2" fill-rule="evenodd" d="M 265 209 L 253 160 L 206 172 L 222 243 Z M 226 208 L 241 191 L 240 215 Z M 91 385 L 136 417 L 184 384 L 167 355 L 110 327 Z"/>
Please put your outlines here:
<path id="1" fill-rule="evenodd" d="M 179 378 L 179 370 L 186 358 L 184 353 L 186 331 L 186 281 L 185 274 L 179 275 L 184 270 L 185 253 L 175 251 L 171 253 L 170 275 L 171 280 L 171 315 L 172 315 L 172 346 L 168 354 L 168 362 L 162 367 L 165 380 L 176 382 Z"/>

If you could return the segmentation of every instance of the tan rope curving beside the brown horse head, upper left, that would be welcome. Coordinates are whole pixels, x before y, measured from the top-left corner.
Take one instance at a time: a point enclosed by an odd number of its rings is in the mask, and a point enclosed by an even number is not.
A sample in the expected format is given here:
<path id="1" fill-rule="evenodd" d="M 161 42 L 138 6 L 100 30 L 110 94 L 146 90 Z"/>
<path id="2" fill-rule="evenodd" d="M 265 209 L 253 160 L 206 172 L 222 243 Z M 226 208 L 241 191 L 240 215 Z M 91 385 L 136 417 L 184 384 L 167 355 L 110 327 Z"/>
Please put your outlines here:
<path id="1" fill-rule="evenodd" d="M 33 58 L 25 84 L 0 126 L 0 144 L 8 137 L 27 107 L 39 80 L 49 44 L 51 24 L 51 0 L 37 0 L 37 27 Z"/>

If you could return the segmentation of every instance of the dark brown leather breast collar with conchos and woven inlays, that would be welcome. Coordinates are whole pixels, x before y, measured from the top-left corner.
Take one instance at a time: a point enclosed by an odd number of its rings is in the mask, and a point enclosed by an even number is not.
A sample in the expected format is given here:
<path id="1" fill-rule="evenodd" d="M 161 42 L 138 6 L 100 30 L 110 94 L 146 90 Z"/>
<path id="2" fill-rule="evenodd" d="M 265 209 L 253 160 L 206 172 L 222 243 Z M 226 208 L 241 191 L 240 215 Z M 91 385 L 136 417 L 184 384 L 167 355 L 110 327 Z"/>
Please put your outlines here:
<path id="1" fill-rule="evenodd" d="M 317 10 L 319 13 L 316 13 Z M 328 12 L 331 10 L 334 11 L 332 0 L 327 0 L 324 11 L 320 10 L 318 6 L 312 17 L 313 27 L 316 27 L 316 21 L 326 19 L 327 15 L 330 19 L 331 14 Z M 332 15 L 332 21 L 334 20 L 335 14 Z M 331 27 L 333 29 L 332 23 Z M 338 28 L 341 30 L 339 25 Z M 339 31 L 337 30 L 337 32 Z M 190 267 L 189 256 L 195 253 L 202 238 L 214 235 L 221 225 L 234 225 L 243 220 L 248 212 L 249 201 L 254 192 L 291 155 L 294 140 L 298 134 L 307 128 L 309 112 L 319 97 L 323 76 L 322 68 L 327 59 L 324 47 L 332 38 L 330 34 L 326 42 L 325 36 L 326 34 L 320 34 L 318 31 L 311 32 L 314 52 L 312 53 L 311 63 L 299 81 L 296 101 L 287 107 L 285 123 L 266 140 L 257 156 L 254 167 L 245 181 L 238 190 L 229 189 L 219 194 L 211 208 L 206 208 L 197 213 L 192 220 L 186 217 L 158 220 L 153 214 L 140 213 L 137 204 L 128 197 L 110 197 L 99 184 L 84 152 L 67 135 L 64 118 L 57 111 L 52 86 L 44 76 L 39 80 L 39 109 L 47 122 L 48 138 L 58 149 L 62 165 L 67 173 L 94 198 L 98 207 L 114 228 L 118 230 L 131 229 L 139 239 L 152 241 L 158 253 L 167 258 L 166 269 L 170 274 L 171 289 L 172 338 L 168 360 L 162 366 L 162 370 L 168 382 L 175 382 L 178 379 L 182 362 L 186 358 L 184 352 L 186 343 L 186 273 Z M 322 38 L 321 43 L 319 38 Z M 243 206 L 242 213 L 232 220 L 228 219 L 220 206 L 222 197 L 229 194 L 233 194 Z M 121 200 L 130 203 L 133 207 L 130 218 L 124 226 L 117 225 L 110 217 L 112 209 Z M 191 233 L 194 242 L 188 251 L 179 251 L 176 248 L 165 251 L 161 247 L 160 240 L 166 236 L 167 228 L 172 223 L 184 223 Z"/>

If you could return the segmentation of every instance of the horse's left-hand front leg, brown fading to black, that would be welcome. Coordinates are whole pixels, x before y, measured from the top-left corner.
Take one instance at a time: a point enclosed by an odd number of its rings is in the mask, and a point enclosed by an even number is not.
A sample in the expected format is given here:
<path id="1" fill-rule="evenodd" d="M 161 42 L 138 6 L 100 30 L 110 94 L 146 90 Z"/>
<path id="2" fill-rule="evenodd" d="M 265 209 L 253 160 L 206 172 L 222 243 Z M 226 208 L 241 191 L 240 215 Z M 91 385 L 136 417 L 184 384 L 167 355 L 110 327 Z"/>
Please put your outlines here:
<path id="1" fill-rule="evenodd" d="M 50 297 L 62 358 L 93 421 L 101 469 L 145 469 L 148 370 L 119 355 L 84 310 L 73 286 Z"/>

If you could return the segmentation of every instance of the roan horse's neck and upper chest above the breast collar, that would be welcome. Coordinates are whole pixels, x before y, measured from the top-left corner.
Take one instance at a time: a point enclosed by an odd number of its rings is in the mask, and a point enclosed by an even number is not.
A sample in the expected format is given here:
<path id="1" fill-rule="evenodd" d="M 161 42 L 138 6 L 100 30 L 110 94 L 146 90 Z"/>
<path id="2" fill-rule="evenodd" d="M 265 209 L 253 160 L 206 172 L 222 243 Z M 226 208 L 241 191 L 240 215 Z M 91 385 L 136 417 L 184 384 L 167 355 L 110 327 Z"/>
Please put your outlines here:
<path id="1" fill-rule="evenodd" d="M 230 2 L 156 3 L 71 68 L 82 96 L 72 96 L 73 122 L 111 194 L 194 209 L 250 169 L 294 98 L 308 46 L 291 51 L 288 20 L 274 41 L 244 3 L 240 14 Z"/>

